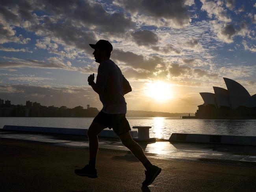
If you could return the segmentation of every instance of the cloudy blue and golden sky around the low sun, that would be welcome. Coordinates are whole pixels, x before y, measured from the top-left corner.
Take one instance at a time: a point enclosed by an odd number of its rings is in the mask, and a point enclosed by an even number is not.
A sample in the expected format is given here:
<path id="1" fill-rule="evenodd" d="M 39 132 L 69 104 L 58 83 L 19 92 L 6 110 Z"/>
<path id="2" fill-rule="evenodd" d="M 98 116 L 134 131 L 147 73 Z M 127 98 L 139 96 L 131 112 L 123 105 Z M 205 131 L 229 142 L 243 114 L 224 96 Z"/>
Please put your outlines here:
<path id="1" fill-rule="evenodd" d="M 195 113 L 223 77 L 256 94 L 256 0 L 1 0 L 0 98 L 102 108 L 93 49 L 128 79 L 128 110 Z"/>

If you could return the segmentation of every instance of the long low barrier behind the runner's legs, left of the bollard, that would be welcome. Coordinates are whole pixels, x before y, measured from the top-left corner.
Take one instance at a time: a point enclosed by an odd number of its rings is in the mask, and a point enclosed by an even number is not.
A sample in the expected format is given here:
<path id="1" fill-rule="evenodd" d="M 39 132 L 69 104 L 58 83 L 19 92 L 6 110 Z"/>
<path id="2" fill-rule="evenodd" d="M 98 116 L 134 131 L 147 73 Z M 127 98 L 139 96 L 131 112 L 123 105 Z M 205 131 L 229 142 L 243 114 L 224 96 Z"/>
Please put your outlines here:
<path id="1" fill-rule="evenodd" d="M 13 131 L 32 131 L 41 133 L 59 133 L 70 135 L 86 135 L 88 129 L 72 129 L 72 128 L 58 128 L 58 127 L 33 127 L 33 126 L 10 126 L 5 125 L 4 130 Z M 138 137 L 137 131 L 130 131 L 132 137 Z M 100 137 L 118 137 L 113 130 L 103 130 L 98 136 Z"/>

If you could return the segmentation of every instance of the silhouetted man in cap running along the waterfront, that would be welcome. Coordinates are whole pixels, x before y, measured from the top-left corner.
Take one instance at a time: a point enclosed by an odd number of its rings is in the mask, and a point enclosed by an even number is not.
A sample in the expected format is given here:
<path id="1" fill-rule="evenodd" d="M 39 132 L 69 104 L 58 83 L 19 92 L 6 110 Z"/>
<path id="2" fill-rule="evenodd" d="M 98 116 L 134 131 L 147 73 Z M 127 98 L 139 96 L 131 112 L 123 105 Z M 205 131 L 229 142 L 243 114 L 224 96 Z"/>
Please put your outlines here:
<path id="1" fill-rule="evenodd" d="M 95 169 L 98 152 L 98 134 L 108 127 L 109 129 L 113 128 L 113 131 L 121 139 L 122 144 L 145 166 L 146 179 L 142 185 L 148 186 L 160 174 L 161 168 L 152 165 L 148 161 L 141 146 L 130 135 L 129 131 L 131 128 L 125 117 L 126 102 L 124 94 L 131 92 L 132 88 L 127 79 L 122 75 L 120 68 L 110 60 L 113 50 L 111 43 L 101 39 L 96 44 L 89 45 L 94 49 L 93 55 L 95 61 L 100 63 L 100 65 L 98 66 L 96 83 L 94 82 L 94 74 L 88 77 L 88 83 L 99 94 L 103 108 L 94 118 L 87 131 L 89 140 L 89 164 L 85 165 L 82 169 L 76 169 L 75 173 L 91 178 L 98 177 L 97 170 Z"/>

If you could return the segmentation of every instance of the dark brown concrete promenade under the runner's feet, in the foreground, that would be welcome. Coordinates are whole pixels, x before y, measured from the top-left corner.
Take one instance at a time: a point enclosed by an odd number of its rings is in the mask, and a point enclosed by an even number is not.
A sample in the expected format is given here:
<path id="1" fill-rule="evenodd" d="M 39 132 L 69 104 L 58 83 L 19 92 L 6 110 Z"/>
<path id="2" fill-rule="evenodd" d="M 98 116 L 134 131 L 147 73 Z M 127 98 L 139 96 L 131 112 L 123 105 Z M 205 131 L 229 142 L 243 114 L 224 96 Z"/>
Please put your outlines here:
<path id="1" fill-rule="evenodd" d="M 101 148 L 99 177 L 74 174 L 88 159 L 85 147 L 68 147 L 52 142 L 0 138 L 0 189 L 9 191 L 60 192 L 254 192 L 256 168 L 232 164 L 204 164 L 161 159 L 148 154 L 162 168 L 152 185 L 141 188 L 144 167 L 125 150 Z"/>

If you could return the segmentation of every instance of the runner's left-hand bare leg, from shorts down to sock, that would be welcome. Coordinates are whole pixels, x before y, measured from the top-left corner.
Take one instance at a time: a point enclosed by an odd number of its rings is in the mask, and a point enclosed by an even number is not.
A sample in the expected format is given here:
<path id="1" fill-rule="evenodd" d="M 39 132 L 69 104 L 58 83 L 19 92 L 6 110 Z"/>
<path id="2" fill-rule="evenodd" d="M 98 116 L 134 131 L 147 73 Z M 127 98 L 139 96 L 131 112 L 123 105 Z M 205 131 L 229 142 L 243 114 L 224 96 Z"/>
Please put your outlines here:
<path id="1" fill-rule="evenodd" d="M 98 153 L 98 134 L 106 127 L 97 122 L 92 122 L 87 131 L 89 140 L 89 160 L 95 160 Z"/>

